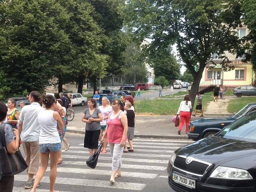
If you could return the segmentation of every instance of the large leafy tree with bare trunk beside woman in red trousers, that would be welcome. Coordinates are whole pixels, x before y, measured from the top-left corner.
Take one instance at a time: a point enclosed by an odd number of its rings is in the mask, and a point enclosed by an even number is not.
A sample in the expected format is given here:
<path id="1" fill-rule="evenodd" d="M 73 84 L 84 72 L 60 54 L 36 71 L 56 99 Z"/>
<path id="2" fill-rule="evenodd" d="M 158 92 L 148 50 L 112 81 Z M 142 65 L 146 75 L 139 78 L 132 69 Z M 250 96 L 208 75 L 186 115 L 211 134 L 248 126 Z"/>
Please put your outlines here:
<path id="1" fill-rule="evenodd" d="M 234 53 L 239 45 L 234 30 L 241 24 L 239 3 L 239 0 L 130 0 L 125 11 L 134 35 L 139 40 L 153 40 L 145 47 L 148 52 L 153 54 L 177 43 L 180 57 L 194 79 L 190 91 L 194 104 L 211 55 L 224 54 L 224 51 Z M 229 69 L 228 63 L 228 58 L 224 57 L 222 67 L 225 70 Z"/>

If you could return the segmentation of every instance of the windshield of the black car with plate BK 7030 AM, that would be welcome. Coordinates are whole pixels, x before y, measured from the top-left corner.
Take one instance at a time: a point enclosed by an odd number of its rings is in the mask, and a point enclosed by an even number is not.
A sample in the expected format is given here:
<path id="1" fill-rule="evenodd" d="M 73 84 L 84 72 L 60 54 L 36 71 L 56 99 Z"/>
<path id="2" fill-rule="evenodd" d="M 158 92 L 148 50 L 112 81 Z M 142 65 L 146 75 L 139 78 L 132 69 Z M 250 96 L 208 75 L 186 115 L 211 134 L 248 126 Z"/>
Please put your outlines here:
<path id="1" fill-rule="evenodd" d="M 256 143 L 256 113 L 250 113 L 234 121 L 216 136 Z"/>

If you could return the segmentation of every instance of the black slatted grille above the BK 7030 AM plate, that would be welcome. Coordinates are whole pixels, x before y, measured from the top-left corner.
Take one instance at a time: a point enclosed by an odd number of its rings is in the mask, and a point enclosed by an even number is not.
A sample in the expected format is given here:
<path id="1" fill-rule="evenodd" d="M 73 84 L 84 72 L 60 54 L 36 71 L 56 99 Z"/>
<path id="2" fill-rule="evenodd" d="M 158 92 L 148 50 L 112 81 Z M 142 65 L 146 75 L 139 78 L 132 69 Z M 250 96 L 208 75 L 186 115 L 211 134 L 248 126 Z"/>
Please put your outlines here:
<path id="1" fill-rule="evenodd" d="M 186 158 L 176 156 L 173 166 L 177 169 L 189 172 L 193 175 L 203 176 L 203 174 L 205 173 L 205 171 L 208 169 L 210 165 L 202 162 L 198 162 L 194 159 L 189 164 L 187 164 Z"/>

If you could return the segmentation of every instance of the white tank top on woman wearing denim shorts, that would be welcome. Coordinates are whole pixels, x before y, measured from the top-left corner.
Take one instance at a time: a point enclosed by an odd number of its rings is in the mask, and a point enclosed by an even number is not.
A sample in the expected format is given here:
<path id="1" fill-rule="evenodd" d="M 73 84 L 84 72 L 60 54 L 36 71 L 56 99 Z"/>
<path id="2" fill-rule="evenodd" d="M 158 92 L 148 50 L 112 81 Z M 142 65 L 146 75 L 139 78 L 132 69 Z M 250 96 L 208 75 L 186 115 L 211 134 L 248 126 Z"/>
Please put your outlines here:
<path id="1" fill-rule="evenodd" d="M 57 121 L 53 118 L 54 111 L 42 110 L 38 113 L 40 125 L 39 144 L 60 143 Z"/>

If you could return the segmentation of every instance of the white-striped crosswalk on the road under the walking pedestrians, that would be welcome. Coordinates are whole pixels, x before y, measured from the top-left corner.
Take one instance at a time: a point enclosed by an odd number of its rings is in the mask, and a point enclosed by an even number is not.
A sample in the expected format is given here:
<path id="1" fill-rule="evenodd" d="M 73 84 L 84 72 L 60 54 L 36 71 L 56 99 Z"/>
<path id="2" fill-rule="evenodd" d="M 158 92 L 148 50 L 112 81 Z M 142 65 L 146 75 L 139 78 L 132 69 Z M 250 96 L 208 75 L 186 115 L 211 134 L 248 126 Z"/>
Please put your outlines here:
<path id="1" fill-rule="evenodd" d="M 109 182 L 112 162 L 109 148 L 106 154 L 100 154 L 96 168 L 90 169 L 86 166 L 88 149 L 82 142 L 72 145 L 69 151 L 62 152 L 64 161 L 57 168 L 55 189 L 63 192 L 143 191 L 155 179 L 164 180 L 168 185 L 166 168 L 170 155 L 192 141 L 136 138 L 133 143 L 134 152 L 122 155 L 122 176 L 114 184 Z M 48 167 L 37 191 L 49 191 L 49 172 Z M 24 189 L 26 179 L 25 172 L 15 175 L 13 191 L 28 192 Z"/>

